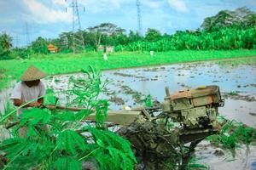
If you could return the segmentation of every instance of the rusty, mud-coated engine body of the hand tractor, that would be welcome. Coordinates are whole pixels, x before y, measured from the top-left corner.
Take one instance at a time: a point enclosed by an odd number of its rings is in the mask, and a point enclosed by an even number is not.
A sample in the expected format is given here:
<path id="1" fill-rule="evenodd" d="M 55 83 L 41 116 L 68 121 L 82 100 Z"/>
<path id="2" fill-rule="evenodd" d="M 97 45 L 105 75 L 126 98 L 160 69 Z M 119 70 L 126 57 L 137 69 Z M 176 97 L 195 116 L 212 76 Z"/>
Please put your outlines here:
<path id="1" fill-rule="evenodd" d="M 224 99 L 218 86 L 212 85 L 167 94 L 161 108 L 164 116 L 189 129 L 215 127 L 220 106 L 224 106 Z"/>

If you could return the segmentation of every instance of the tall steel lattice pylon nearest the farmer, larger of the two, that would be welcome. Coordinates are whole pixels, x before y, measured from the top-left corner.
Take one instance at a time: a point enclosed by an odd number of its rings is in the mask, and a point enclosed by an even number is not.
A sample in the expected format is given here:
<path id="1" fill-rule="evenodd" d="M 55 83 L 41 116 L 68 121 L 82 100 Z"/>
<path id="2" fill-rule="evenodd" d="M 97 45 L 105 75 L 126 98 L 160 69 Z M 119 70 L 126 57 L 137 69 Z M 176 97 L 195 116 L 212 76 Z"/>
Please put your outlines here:
<path id="1" fill-rule="evenodd" d="M 79 5 L 77 0 L 73 0 L 72 4 L 73 22 L 72 22 L 72 37 L 73 37 L 73 53 L 84 50 L 84 37 L 81 30 L 81 22 L 79 15 Z M 67 11 L 67 9 L 66 9 Z"/>

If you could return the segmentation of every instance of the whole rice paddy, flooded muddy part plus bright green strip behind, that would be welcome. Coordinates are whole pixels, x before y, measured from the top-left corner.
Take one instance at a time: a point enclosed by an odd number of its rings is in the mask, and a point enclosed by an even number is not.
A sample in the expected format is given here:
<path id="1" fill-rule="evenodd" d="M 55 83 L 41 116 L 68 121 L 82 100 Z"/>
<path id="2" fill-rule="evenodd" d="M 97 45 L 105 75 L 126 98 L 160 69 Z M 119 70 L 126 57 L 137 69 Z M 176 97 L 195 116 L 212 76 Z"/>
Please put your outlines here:
<path id="1" fill-rule="evenodd" d="M 184 88 L 214 84 L 220 87 L 225 99 L 224 107 L 219 110 L 220 116 L 255 129 L 255 55 L 255 50 L 172 51 L 155 53 L 153 56 L 148 52 L 125 52 L 109 54 L 107 61 L 103 60 L 102 54 L 99 53 L 72 56 L 52 54 L 34 56 L 29 60 L 0 61 L 0 65 L 3 66 L 3 75 L 7 77 L 2 82 L 2 89 L 5 88 L 5 90 L 0 94 L 2 104 L 0 108 L 3 111 L 3 103 L 9 102 L 11 88 L 7 87 L 10 86 L 10 82 L 18 80 L 20 73 L 28 65 L 36 65 L 50 75 L 43 81 L 60 98 L 61 105 L 67 104 L 67 98 L 62 92 L 68 88 L 69 78 L 81 77 L 79 71 L 92 65 L 102 70 L 103 81 L 110 80 L 107 87 L 108 94 L 100 94 L 99 98 L 108 100 L 109 109 L 113 111 L 122 110 L 124 106 L 135 108 L 143 105 L 142 100 L 148 94 L 152 99 L 162 102 L 166 86 L 170 87 L 173 93 Z M 239 123 L 238 126 L 240 126 Z M 221 136 L 221 138 L 225 139 L 229 136 Z M 236 138 L 229 138 L 224 143 L 226 145 L 214 143 L 216 140 L 214 136 L 203 140 L 195 148 L 196 161 L 194 160 L 193 165 L 201 167 L 199 169 L 254 170 L 255 141 L 246 145 L 239 143 L 240 137 Z M 236 150 L 232 144 L 236 144 Z"/>

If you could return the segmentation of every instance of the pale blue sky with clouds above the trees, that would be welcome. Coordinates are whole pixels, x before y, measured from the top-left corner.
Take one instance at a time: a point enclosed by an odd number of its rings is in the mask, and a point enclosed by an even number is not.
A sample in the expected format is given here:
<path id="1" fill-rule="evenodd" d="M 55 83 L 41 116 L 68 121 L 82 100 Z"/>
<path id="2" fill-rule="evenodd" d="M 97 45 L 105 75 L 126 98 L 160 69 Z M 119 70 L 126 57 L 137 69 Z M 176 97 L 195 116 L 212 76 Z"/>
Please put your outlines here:
<path id="1" fill-rule="evenodd" d="M 137 0 L 78 0 L 81 28 L 111 22 L 137 31 Z M 143 33 L 195 30 L 204 18 L 223 9 L 247 7 L 256 12 L 256 0 L 141 0 Z M 25 46 L 37 37 L 55 38 L 72 31 L 72 0 L 0 0 L 0 32 Z M 66 11 L 67 8 L 67 11 Z M 84 11 L 85 8 L 85 11 Z M 26 29 L 27 27 L 27 29 Z M 26 34 L 26 32 L 28 34 Z M 28 37 L 28 38 L 27 38 Z"/>

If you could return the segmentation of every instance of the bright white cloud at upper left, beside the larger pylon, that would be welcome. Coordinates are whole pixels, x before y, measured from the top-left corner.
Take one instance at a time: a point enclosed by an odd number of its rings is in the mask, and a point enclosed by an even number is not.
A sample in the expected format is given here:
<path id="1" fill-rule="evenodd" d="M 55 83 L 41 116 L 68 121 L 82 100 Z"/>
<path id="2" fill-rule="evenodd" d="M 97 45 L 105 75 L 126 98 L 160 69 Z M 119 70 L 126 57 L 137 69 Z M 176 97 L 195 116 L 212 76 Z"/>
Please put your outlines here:
<path id="1" fill-rule="evenodd" d="M 48 8 L 37 0 L 23 0 L 23 3 L 25 3 L 31 13 L 29 18 L 38 24 L 71 22 L 72 20 L 72 14 L 69 10 L 66 13 L 64 9 Z"/>

